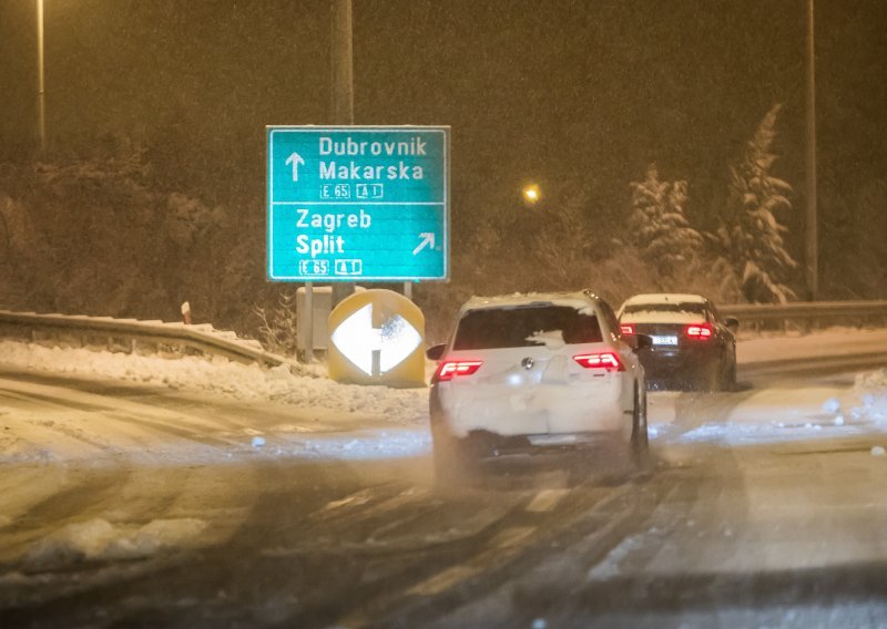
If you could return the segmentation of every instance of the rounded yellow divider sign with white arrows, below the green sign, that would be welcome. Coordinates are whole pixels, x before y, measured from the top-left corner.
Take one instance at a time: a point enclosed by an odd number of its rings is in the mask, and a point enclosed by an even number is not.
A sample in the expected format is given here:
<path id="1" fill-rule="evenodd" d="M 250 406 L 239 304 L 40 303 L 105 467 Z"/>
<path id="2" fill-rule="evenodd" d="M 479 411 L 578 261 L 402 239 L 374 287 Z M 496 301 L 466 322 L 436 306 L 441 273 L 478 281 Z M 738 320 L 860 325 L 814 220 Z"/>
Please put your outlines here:
<path id="1" fill-rule="evenodd" d="M 354 384 L 425 386 L 425 317 L 392 290 L 356 292 L 329 313 L 329 378 Z"/>

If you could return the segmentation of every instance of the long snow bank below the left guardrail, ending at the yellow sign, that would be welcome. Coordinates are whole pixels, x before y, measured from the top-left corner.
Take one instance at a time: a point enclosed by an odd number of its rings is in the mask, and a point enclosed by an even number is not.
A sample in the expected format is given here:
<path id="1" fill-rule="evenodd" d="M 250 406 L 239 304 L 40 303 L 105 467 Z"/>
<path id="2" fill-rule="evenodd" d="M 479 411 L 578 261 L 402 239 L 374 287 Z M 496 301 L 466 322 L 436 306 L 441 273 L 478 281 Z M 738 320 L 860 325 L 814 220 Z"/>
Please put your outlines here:
<path id="1" fill-rule="evenodd" d="M 12 341 L 0 341 L 0 363 L 29 370 L 205 391 L 237 400 L 267 400 L 338 413 L 378 415 L 395 423 L 424 422 L 428 417 L 426 389 L 339 384 L 328 380 L 320 367 L 297 365 L 300 373 L 293 373 L 288 365 L 263 369 L 257 364 L 246 365 L 226 359 L 165 359 L 79 348 L 47 348 Z"/>

